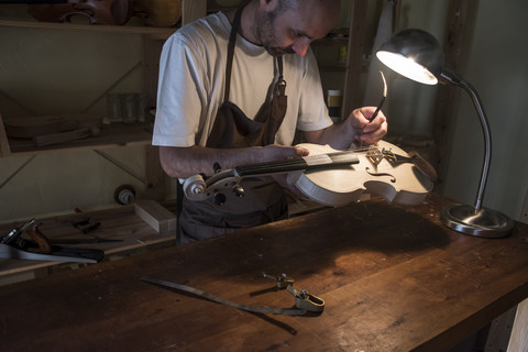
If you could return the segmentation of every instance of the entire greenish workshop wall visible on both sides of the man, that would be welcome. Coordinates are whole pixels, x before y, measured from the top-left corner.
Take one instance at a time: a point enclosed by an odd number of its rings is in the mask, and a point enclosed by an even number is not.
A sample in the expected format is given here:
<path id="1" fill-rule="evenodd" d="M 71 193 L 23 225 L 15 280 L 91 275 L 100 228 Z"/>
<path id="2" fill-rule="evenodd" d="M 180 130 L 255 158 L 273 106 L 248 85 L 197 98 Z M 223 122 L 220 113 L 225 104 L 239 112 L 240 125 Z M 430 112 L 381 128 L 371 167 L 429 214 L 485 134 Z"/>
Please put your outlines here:
<path id="1" fill-rule="evenodd" d="M 402 0 L 400 29 L 421 28 L 443 41 L 444 0 Z M 474 28 L 464 47 L 462 76 L 484 102 L 492 136 L 492 170 L 484 206 L 518 219 L 528 189 L 528 32 L 525 0 L 476 1 Z M 6 6 L 0 7 L 0 14 Z M 141 62 L 141 36 L 111 33 L 9 29 L 0 31 L 0 113 L 4 118 L 78 112 L 105 113 L 98 97 Z M 138 91 L 141 68 L 132 72 L 114 92 Z M 391 131 L 432 134 L 435 97 L 442 87 L 394 79 L 391 90 Z M 449 160 L 444 194 L 474 202 L 482 167 L 481 128 L 471 99 L 460 90 L 449 127 Z M 142 175 L 144 148 L 106 150 Z M 113 190 L 132 184 L 139 197 L 144 185 L 92 151 L 42 154 L 15 173 L 30 156 L 0 158 L 0 221 L 116 206 Z M 174 184 L 174 183 L 173 183 Z M 174 189 L 167 188 L 167 197 Z"/>

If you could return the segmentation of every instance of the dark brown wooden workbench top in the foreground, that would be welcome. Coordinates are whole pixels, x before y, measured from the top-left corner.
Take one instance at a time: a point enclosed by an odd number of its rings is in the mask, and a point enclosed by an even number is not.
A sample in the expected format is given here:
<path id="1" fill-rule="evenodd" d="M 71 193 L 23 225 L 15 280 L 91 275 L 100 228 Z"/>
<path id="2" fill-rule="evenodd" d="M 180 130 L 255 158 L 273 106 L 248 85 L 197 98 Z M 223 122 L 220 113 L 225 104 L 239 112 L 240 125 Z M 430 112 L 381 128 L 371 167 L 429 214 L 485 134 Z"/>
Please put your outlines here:
<path id="1" fill-rule="evenodd" d="M 448 201 L 370 200 L 0 288 L 3 351 L 446 351 L 528 297 L 528 226 L 480 239 Z M 317 316 L 255 315 L 140 280 L 292 308 L 264 278 L 324 299 Z"/>

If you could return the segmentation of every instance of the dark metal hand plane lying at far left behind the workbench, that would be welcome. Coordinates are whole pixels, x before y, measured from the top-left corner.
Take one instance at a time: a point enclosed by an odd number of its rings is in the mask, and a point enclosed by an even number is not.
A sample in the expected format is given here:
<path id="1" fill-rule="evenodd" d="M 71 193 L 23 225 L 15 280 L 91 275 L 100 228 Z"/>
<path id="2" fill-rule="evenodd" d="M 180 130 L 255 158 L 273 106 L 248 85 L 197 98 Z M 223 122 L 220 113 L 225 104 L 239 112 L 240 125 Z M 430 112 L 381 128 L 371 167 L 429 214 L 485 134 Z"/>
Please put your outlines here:
<path id="1" fill-rule="evenodd" d="M 30 239 L 22 238 L 28 233 Z M 32 261 L 97 263 L 105 252 L 95 249 L 68 248 L 53 244 L 32 219 L 0 237 L 0 257 Z"/>

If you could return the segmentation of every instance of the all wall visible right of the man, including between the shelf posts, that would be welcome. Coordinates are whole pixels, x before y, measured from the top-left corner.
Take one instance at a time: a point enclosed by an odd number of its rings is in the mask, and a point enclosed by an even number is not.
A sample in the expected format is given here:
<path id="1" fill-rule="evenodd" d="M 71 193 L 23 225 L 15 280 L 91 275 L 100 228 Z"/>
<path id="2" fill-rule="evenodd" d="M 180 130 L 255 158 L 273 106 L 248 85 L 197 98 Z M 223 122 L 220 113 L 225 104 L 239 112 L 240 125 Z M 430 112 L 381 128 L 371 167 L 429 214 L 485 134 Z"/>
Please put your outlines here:
<path id="1" fill-rule="evenodd" d="M 418 28 L 440 43 L 447 33 L 449 1 L 403 0 L 400 29 Z M 528 2 L 471 0 L 462 65 L 458 72 L 483 101 L 492 130 L 492 163 L 483 206 L 518 220 L 528 190 Z M 394 78 L 389 88 L 389 134 L 432 138 L 435 101 L 442 86 Z M 460 202 L 475 204 L 484 160 L 484 141 L 472 100 L 455 89 L 448 127 L 441 191 Z"/>

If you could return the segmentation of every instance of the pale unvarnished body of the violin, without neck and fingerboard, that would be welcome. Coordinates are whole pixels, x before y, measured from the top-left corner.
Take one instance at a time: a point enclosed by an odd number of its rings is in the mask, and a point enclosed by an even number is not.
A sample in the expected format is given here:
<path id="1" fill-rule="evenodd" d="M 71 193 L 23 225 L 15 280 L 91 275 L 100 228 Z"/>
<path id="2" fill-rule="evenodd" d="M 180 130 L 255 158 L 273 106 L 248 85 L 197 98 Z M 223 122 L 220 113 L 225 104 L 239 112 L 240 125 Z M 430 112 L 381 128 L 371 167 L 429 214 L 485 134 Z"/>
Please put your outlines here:
<path id="1" fill-rule="evenodd" d="M 333 151 L 328 145 L 299 144 L 299 146 L 308 148 L 310 155 Z M 408 155 L 385 141 L 380 141 L 376 147 Z M 359 201 L 365 193 L 381 196 L 391 204 L 419 205 L 432 190 L 433 182 L 413 163 L 394 166 L 383 157 L 375 165 L 367 154 L 367 150 L 358 151 L 360 162 L 346 167 L 289 174 L 287 182 L 295 185 L 306 197 L 333 207 Z"/>

